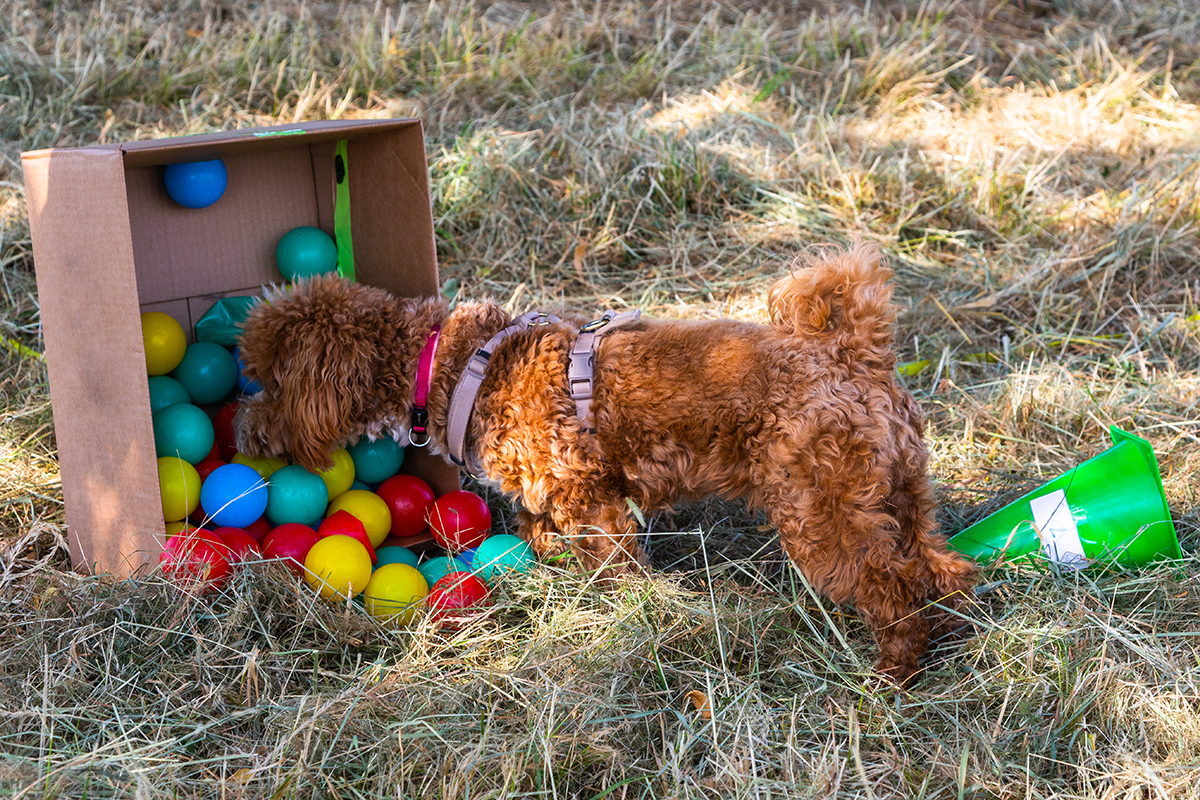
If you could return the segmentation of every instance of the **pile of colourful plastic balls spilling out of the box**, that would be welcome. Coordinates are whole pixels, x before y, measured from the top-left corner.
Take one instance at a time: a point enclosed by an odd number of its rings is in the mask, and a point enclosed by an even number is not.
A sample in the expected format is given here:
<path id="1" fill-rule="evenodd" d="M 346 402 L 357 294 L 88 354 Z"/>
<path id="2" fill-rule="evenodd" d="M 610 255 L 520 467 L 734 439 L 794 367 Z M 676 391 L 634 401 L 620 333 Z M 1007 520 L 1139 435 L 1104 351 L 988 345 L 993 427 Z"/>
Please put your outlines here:
<path id="1" fill-rule="evenodd" d="M 142 315 L 158 483 L 168 540 L 164 575 L 196 591 L 223 585 L 236 565 L 280 559 L 334 602 L 360 599 L 380 621 L 406 624 L 422 608 L 449 620 L 486 606 L 498 581 L 528 572 L 528 545 L 491 535 L 476 494 L 434 497 L 400 474 L 395 440 L 362 438 L 311 473 L 236 450 L 240 398 L 260 391 L 236 349 L 187 343 L 168 314 Z M 444 554 L 424 561 L 395 540 L 430 531 Z"/>

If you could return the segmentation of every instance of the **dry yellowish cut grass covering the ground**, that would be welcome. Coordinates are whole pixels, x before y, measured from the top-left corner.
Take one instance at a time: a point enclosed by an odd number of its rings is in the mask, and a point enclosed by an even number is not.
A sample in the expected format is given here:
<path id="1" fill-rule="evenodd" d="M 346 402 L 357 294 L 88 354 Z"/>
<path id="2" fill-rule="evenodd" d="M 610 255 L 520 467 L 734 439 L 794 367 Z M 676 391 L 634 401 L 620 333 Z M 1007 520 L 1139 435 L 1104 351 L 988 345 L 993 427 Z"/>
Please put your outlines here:
<path id="1" fill-rule="evenodd" d="M 988 570 L 902 693 L 718 501 L 650 521 L 653 578 L 547 566 L 450 638 L 274 565 L 203 601 L 71 573 L 18 160 L 416 114 L 446 290 L 514 307 L 761 319 L 798 248 L 878 241 L 944 527 L 1116 423 L 1190 553 L 1198 42 L 1184 0 L 0 7 L 0 792 L 1200 796 L 1194 555 Z"/>

